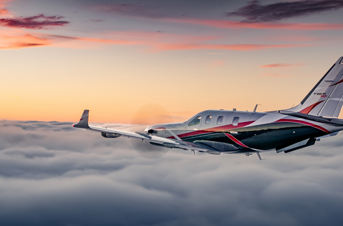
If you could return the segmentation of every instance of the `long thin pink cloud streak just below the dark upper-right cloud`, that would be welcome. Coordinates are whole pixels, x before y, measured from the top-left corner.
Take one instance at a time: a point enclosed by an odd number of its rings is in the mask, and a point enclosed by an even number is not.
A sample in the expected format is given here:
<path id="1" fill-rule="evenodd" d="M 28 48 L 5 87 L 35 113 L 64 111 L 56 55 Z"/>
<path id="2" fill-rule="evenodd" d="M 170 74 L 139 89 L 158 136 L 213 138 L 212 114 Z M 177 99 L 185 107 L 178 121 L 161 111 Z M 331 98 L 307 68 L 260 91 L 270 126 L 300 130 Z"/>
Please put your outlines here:
<path id="1" fill-rule="evenodd" d="M 237 21 L 221 21 L 210 19 L 174 19 L 164 18 L 164 21 L 175 23 L 187 23 L 206 25 L 217 28 L 252 28 L 252 29 L 286 29 L 286 30 L 343 30 L 343 24 L 325 24 L 325 23 L 243 23 Z"/>

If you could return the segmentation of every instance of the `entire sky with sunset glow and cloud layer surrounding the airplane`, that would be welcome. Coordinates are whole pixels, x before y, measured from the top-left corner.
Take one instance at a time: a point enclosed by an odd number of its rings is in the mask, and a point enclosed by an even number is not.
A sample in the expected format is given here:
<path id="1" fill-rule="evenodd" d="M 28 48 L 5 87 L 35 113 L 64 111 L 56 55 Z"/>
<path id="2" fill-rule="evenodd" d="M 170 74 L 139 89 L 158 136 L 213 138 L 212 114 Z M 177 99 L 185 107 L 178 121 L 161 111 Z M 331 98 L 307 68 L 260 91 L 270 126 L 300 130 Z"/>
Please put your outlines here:
<path id="1" fill-rule="evenodd" d="M 72 124 L 290 108 L 343 56 L 342 15 L 343 0 L 0 0 L 0 225 L 341 226 L 342 132 L 260 161 Z"/>

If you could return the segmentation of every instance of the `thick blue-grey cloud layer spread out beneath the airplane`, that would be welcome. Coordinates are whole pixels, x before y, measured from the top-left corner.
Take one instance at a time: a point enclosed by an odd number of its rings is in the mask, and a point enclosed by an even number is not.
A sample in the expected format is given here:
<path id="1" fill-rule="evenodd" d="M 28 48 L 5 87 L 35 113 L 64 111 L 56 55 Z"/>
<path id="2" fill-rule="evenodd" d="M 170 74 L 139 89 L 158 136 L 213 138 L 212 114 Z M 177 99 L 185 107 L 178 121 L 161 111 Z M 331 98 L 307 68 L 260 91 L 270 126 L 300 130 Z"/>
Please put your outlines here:
<path id="1" fill-rule="evenodd" d="M 343 220 L 340 134 L 288 154 L 263 153 L 263 161 L 176 149 L 145 159 L 128 138 L 106 139 L 71 124 L 0 121 L 1 225 L 335 226 Z"/>

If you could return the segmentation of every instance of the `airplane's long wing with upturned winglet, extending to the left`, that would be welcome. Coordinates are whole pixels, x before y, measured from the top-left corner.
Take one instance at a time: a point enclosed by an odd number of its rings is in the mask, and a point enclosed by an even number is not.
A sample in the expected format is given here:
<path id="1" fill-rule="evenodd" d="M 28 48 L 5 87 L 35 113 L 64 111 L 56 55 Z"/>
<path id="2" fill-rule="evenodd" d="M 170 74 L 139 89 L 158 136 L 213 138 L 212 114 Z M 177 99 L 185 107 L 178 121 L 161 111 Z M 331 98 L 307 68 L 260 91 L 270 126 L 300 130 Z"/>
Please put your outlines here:
<path id="1" fill-rule="evenodd" d="M 88 115 L 89 115 L 89 110 L 84 110 L 80 121 L 78 123 L 74 123 L 73 127 L 101 132 L 106 137 L 125 136 L 128 138 L 141 139 L 142 141 L 147 140 L 152 144 L 157 144 L 157 145 L 165 146 L 169 148 L 181 148 L 184 150 L 203 151 L 203 152 L 208 152 L 210 154 L 215 154 L 215 155 L 220 155 L 221 153 L 221 151 L 205 144 L 195 144 L 192 142 L 179 141 L 176 139 L 151 136 L 151 135 L 147 135 L 145 133 L 140 133 L 140 132 L 133 133 L 133 132 L 128 132 L 128 131 L 97 127 L 95 125 L 88 125 Z"/>

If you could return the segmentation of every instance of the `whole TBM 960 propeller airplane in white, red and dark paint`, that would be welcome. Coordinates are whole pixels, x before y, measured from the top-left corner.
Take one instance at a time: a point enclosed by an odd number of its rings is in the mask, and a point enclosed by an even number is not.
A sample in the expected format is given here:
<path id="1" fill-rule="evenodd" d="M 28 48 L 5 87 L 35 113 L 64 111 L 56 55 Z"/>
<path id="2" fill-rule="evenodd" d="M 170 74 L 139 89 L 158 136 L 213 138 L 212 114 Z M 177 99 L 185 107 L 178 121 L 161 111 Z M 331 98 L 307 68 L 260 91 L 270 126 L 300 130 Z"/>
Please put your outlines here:
<path id="1" fill-rule="evenodd" d="M 343 105 L 343 57 L 329 69 L 315 87 L 295 107 L 257 112 L 205 110 L 184 122 L 155 124 L 142 132 L 127 132 L 88 124 L 84 110 L 73 127 L 100 132 L 103 137 L 149 141 L 152 145 L 206 152 L 212 155 L 291 152 L 314 145 L 321 138 L 343 130 L 338 119 Z"/>

